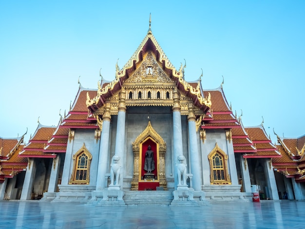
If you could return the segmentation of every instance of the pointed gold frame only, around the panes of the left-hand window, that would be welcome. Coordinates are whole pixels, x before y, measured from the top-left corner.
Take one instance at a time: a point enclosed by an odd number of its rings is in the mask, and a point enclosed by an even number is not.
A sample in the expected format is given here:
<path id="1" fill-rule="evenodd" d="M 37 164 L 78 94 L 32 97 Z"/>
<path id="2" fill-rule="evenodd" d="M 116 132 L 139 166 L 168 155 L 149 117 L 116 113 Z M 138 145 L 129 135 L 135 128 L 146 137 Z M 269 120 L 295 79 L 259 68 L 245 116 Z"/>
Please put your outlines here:
<path id="1" fill-rule="evenodd" d="M 77 160 L 76 159 L 82 153 L 85 153 L 86 156 L 88 157 L 86 180 L 76 180 L 76 170 L 77 170 Z M 86 148 L 85 143 L 84 143 L 83 146 L 73 155 L 73 170 L 72 170 L 71 178 L 69 181 L 69 185 L 72 185 L 72 184 L 89 185 L 91 160 L 92 160 L 92 154 L 88 151 L 88 149 Z"/>

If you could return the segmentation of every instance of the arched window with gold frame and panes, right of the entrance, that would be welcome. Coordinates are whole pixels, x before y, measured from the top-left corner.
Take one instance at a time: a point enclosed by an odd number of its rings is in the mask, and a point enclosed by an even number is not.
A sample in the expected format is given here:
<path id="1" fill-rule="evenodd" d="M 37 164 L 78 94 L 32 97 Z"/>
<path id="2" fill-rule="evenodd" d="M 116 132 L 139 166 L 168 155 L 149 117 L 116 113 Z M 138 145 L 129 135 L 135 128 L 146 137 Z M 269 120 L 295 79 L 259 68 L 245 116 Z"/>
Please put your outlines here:
<path id="1" fill-rule="evenodd" d="M 208 155 L 210 161 L 210 182 L 213 185 L 231 184 L 228 171 L 228 155 L 221 150 L 217 143 Z"/>

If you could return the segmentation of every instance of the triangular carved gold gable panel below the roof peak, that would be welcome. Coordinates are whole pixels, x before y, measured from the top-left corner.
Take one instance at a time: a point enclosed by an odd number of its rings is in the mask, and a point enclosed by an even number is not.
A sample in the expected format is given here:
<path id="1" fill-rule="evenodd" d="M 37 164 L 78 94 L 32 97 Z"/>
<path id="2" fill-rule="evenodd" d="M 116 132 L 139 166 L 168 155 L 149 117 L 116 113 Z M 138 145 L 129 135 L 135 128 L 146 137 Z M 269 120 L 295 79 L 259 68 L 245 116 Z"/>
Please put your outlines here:
<path id="1" fill-rule="evenodd" d="M 173 82 L 168 77 L 161 67 L 157 64 L 156 60 L 149 52 L 144 61 L 135 71 L 135 73 L 127 79 L 125 82 L 141 83 L 141 82 Z"/>

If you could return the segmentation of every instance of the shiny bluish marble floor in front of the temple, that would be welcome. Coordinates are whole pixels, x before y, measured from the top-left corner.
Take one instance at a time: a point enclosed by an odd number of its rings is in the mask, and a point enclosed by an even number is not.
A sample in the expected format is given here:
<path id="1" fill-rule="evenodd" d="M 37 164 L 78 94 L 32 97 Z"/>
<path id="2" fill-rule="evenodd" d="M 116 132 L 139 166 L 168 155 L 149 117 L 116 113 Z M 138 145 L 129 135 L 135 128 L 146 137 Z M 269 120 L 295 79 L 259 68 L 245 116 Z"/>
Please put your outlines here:
<path id="1" fill-rule="evenodd" d="M 0 201 L 0 229 L 302 229 L 304 201 L 216 202 L 201 207 L 97 207 Z"/>

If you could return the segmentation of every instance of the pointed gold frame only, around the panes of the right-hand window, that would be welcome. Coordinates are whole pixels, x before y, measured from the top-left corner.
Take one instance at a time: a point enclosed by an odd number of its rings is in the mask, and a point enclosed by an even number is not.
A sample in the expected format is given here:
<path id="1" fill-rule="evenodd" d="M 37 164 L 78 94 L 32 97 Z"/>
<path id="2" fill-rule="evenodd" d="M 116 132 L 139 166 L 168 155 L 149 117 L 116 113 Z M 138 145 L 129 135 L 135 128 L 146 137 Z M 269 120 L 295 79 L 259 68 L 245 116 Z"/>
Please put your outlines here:
<path id="1" fill-rule="evenodd" d="M 218 153 L 222 158 L 224 159 L 223 161 L 223 170 L 224 170 L 224 175 L 225 179 L 224 180 L 215 180 L 214 177 L 214 169 L 213 169 L 213 156 Z M 229 175 L 229 170 L 228 170 L 228 155 L 219 148 L 219 146 L 215 145 L 215 148 L 209 153 L 208 155 L 209 161 L 210 161 L 210 183 L 211 185 L 230 185 L 231 183 L 231 178 Z"/>

